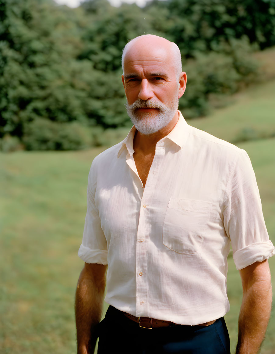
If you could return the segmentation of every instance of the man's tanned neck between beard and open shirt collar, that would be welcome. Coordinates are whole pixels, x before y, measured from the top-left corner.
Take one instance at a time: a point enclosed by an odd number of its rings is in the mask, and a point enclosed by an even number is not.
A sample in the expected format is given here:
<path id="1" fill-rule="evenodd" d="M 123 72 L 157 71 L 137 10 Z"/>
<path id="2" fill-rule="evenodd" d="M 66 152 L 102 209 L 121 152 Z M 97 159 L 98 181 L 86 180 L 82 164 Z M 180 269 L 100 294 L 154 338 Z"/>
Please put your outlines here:
<path id="1" fill-rule="evenodd" d="M 134 136 L 135 152 L 140 152 L 144 155 L 154 153 L 157 142 L 170 133 L 170 131 L 177 124 L 178 120 L 179 120 L 179 112 L 177 111 L 174 117 L 172 118 L 172 120 L 165 127 L 163 127 L 162 129 L 160 129 L 159 131 L 153 134 L 144 135 L 141 134 L 138 130 L 136 130 Z"/>

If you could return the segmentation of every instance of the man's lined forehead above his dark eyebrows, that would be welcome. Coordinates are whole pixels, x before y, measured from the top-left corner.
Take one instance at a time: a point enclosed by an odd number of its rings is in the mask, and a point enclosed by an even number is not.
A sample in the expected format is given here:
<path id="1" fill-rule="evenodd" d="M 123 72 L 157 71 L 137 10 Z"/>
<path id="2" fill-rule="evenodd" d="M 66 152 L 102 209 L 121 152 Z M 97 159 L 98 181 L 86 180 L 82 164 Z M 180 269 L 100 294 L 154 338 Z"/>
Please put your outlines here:
<path id="1" fill-rule="evenodd" d="M 149 46 L 131 46 L 124 58 L 124 73 L 135 71 L 173 72 L 171 52 L 164 48 L 150 48 Z"/>

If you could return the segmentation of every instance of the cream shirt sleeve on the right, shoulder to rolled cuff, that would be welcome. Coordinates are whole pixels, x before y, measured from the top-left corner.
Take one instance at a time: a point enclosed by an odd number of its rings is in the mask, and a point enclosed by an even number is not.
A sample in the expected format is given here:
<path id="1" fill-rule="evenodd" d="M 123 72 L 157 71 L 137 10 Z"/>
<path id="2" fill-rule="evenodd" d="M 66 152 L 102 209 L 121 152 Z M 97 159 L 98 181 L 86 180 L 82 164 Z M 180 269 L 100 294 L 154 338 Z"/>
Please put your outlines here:
<path id="1" fill-rule="evenodd" d="M 224 195 L 223 223 L 237 269 L 275 254 L 265 226 L 262 203 L 249 156 L 240 150 Z"/>

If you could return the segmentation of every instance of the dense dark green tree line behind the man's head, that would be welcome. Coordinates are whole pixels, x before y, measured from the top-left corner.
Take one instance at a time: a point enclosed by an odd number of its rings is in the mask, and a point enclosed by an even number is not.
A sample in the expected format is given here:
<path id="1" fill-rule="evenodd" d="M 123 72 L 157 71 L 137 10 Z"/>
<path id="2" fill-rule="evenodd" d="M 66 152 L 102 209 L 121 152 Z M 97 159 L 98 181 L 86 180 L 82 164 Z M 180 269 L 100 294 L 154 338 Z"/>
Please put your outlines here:
<path id="1" fill-rule="evenodd" d="M 76 9 L 0 0 L 2 149 L 80 149 L 100 144 L 103 130 L 129 126 L 121 54 L 148 33 L 180 48 L 185 118 L 207 115 L 253 82 L 251 53 L 275 45 L 274 15 L 274 0 L 153 0 L 144 8 L 89 0 Z"/>

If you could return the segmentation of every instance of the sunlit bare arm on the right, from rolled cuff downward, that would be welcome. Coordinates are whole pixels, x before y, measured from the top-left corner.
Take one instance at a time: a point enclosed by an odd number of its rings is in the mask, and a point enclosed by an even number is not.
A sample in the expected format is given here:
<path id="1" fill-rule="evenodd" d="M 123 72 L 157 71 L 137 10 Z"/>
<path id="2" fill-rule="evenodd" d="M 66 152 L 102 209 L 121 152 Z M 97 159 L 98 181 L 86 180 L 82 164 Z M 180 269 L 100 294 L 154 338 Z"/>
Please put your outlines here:
<path id="1" fill-rule="evenodd" d="M 240 270 L 242 304 L 236 354 L 257 354 L 264 340 L 272 302 L 272 287 L 267 259 Z"/>

